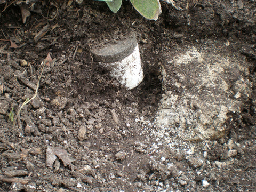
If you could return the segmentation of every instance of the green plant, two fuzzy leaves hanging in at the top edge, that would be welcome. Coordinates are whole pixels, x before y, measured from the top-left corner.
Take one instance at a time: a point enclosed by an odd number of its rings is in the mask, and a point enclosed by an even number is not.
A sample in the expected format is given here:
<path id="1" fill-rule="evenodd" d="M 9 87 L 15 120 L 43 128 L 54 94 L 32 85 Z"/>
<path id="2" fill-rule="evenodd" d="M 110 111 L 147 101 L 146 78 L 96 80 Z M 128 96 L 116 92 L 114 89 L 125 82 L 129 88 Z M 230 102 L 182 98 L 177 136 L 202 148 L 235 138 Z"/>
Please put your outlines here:
<path id="1" fill-rule="evenodd" d="M 103 0 L 107 3 L 109 9 L 116 13 L 121 5 L 122 0 Z M 159 0 L 130 0 L 135 10 L 143 17 L 150 20 L 157 20 L 159 14 L 162 13 Z"/>

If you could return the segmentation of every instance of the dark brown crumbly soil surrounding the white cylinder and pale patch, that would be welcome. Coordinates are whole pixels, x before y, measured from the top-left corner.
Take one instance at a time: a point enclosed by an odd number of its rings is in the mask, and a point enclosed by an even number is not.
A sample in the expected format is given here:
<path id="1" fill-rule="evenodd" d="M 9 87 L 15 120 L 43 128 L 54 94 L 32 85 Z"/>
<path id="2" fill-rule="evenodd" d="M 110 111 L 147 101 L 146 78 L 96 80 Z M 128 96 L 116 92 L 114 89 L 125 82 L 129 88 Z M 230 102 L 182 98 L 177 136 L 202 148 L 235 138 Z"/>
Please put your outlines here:
<path id="1" fill-rule="evenodd" d="M 98 1 L 36 2 L 42 13 L 31 11 L 25 24 L 18 5 L 0 13 L 0 191 L 256 191 L 256 2 L 161 5 L 157 21 L 126 1 L 117 14 Z M 51 28 L 35 39 L 47 23 Z M 131 32 L 145 78 L 126 90 L 90 49 Z M 159 63 L 164 53 L 188 46 L 241 55 L 251 63 L 252 94 L 241 113 L 230 113 L 233 123 L 222 138 L 190 142 L 171 135 L 173 143 L 164 143 L 152 134 L 164 92 Z M 15 118 L 33 97 L 48 53 L 53 62 L 38 95 L 13 126 L 9 114 L 13 108 Z"/>

